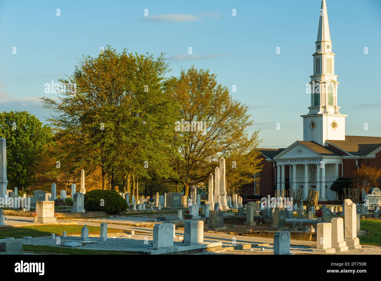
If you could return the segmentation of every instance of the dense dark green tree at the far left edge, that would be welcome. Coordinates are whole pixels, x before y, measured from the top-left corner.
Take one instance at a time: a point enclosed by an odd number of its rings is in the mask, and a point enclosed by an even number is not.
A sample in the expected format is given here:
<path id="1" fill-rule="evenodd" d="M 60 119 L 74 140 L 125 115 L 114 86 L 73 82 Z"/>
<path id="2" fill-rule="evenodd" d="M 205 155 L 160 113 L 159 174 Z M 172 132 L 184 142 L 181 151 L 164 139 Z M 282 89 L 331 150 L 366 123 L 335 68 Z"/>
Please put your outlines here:
<path id="1" fill-rule="evenodd" d="M 26 190 L 51 143 L 51 129 L 26 111 L 0 113 L 0 137 L 6 139 L 8 188 Z M 53 169 L 54 166 L 51 167 Z"/>

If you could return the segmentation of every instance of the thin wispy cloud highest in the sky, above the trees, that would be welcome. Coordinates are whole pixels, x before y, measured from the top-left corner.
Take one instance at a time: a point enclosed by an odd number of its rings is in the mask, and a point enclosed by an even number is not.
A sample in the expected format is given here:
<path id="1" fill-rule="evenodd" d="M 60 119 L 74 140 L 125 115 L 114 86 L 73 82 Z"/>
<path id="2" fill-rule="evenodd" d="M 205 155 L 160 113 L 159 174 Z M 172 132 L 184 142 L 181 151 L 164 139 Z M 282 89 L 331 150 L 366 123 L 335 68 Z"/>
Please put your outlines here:
<path id="1" fill-rule="evenodd" d="M 193 22 L 200 21 L 203 18 L 217 19 L 219 18 L 219 13 L 217 12 L 202 12 L 198 16 L 194 14 L 160 14 L 155 16 L 145 16 L 139 18 L 140 21 L 147 22 Z"/>

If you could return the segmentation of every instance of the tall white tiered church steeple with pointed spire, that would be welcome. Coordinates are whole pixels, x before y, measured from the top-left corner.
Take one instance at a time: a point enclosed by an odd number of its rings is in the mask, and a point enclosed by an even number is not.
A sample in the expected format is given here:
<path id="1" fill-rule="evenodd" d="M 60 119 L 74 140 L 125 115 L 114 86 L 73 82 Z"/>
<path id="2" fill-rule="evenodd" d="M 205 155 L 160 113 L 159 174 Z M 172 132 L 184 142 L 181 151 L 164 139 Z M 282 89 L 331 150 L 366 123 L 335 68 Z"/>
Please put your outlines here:
<path id="1" fill-rule="evenodd" d="M 311 106 L 303 117 L 303 141 L 314 141 L 321 145 L 328 140 L 345 140 L 345 117 L 339 113 L 335 75 L 335 54 L 328 26 L 327 4 L 322 0 L 319 28 L 313 57 L 313 74 L 309 82 Z M 308 85 L 307 84 L 307 85 Z"/>

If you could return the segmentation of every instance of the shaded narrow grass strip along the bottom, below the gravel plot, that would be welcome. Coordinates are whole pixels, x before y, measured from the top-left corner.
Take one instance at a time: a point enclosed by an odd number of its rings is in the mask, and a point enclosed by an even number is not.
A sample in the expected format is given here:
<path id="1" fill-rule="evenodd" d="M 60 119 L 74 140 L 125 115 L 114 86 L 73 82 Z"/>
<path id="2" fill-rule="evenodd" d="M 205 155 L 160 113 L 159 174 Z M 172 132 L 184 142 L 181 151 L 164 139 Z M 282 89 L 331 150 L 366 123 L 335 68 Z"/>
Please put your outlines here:
<path id="1" fill-rule="evenodd" d="M 54 254 L 69 254 L 69 255 L 129 255 L 124 252 L 118 251 L 101 251 L 91 249 L 73 249 L 68 247 L 52 247 L 40 245 L 22 245 L 22 249 L 27 252 L 41 252 L 41 253 L 54 253 Z"/>

